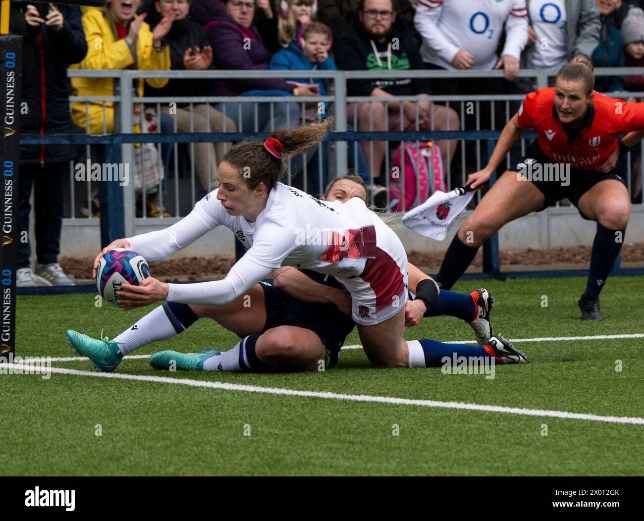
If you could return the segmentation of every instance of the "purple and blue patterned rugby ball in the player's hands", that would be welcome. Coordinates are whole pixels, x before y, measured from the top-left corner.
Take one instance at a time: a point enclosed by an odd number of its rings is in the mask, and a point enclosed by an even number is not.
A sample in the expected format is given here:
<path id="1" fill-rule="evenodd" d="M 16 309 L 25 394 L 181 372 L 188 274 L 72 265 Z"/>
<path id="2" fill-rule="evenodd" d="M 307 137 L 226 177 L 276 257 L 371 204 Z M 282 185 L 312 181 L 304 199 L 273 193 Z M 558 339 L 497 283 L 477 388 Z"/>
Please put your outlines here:
<path id="1" fill-rule="evenodd" d="M 99 269 L 96 270 L 96 287 L 100 296 L 110 304 L 126 307 L 118 303 L 116 295 L 121 284 L 127 282 L 138 286 L 149 276 L 147 261 L 142 256 L 127 248 L 117 248 L 100 258 Z"/>

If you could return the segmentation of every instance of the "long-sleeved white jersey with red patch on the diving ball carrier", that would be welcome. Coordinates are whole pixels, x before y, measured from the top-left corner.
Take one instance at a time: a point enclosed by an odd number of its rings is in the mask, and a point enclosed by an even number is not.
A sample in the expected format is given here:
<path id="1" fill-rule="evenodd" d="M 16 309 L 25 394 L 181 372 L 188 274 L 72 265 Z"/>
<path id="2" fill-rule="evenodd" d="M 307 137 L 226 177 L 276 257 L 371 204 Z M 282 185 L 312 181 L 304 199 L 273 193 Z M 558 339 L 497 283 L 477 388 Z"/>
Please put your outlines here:
<path id="1" fill-rule="evenodd" d="M 128 239 L 131 249 L 147 260 L 158 260 L 223 225 L 249 247 L 226 279 L 170 284 L 169 301 L 227 303 L 280 265 L 313 269 L 340 279 L 357 276 L 365 269 L 366 260 L 376 256 L 376 231 L 383 247 L 388 235 L 393 234 L 365 202 L 355 197 L 345 204 L 320 201 L 278 183 L 270 191 L 265 209 L 249 223 L 242 216 L 229 215 L 217 193 L 218 189 L 207 194 L 175 225 Z"/>

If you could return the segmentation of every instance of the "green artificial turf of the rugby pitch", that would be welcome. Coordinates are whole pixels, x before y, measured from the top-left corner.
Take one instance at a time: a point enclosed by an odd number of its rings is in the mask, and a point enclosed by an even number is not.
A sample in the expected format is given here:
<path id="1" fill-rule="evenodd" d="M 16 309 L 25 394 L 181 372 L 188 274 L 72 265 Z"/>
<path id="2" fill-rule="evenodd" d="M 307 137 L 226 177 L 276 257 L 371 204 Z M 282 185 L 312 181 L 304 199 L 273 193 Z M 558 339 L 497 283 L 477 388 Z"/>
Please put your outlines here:
<path id="1" fill-rule="evenodd" d="M 497 299 L 495 332 L 508 338 L 644 332 L 644 278 L 611 278 L 606 317 L 583 322 L 582 278 L 459 283 Z M 542 307 L 547 296 L 547 307 Z M 114 337 L 147 310 L 95 307 L 91 294 L 20 297 L 17 354 L 68 357 L 64 331 Z M 471 339 L 452 317 L 424 319 L 406 338 Z M 180 336 L 137 350 L 227 350 L 237 337 L 202 319 Z M 354 331 L 346 345 L 359 343 Z M 464 402 L 603 416 L 644 417 L 644 339 L 516 343 L 529 363 L 495 378 L 440 368 L 377 370 L 361 349 L 325 372 L 158 372 L 125 359 L 117 374 L 267 388 Z M 620 361 L 620 362 L 618 362 Z M 55 362 L 95 372 L 89 361 Z M 621 365 L 621 371 L 616 371 Z M 502 412 L 361 403 L 52 374 L 0 375 L 3 475 L 642 475 L 644 425 Z M 397 426 L 399 435 L 392 435 Z M 547 428 L 547 436 L 542 435 Z M 97 436 L 100 430 L 100 436 Z"/>

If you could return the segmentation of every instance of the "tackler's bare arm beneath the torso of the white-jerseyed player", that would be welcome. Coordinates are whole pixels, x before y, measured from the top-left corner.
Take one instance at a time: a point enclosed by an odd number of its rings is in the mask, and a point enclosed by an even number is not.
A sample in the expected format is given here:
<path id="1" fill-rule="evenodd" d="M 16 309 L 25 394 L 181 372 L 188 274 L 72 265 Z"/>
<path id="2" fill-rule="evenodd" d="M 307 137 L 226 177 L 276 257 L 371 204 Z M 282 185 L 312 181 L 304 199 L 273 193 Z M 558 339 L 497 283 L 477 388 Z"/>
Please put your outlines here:
<path id="1" fill-rule="evenodd" d="M 273 276 L 273 285 L 299 301 L 334 304 L 344 314 L 351 314 L 351 294 L 348 291 L 320 284 L 297 268 L 279 267 Z"/>

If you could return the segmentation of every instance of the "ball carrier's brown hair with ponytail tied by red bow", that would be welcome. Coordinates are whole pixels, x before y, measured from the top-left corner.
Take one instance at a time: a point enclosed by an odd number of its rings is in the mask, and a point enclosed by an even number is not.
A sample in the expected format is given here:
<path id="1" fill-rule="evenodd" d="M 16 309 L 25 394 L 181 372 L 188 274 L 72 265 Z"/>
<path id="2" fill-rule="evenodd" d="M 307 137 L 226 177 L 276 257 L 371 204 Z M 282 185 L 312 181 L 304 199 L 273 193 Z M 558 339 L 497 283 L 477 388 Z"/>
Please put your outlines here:
<path id="1" fill-rule="evenodd" d="M 333 117 L 328 117 L 321 123 L 294 129 L 278 128 L 265 141 L 243 140 L 223 155 L 222 162 L 235 167 L 249 189 L 254 190 L 263 183 L 270 191 L 281 179 L 287 160 L 319 143 L 333 120 Z"/>

